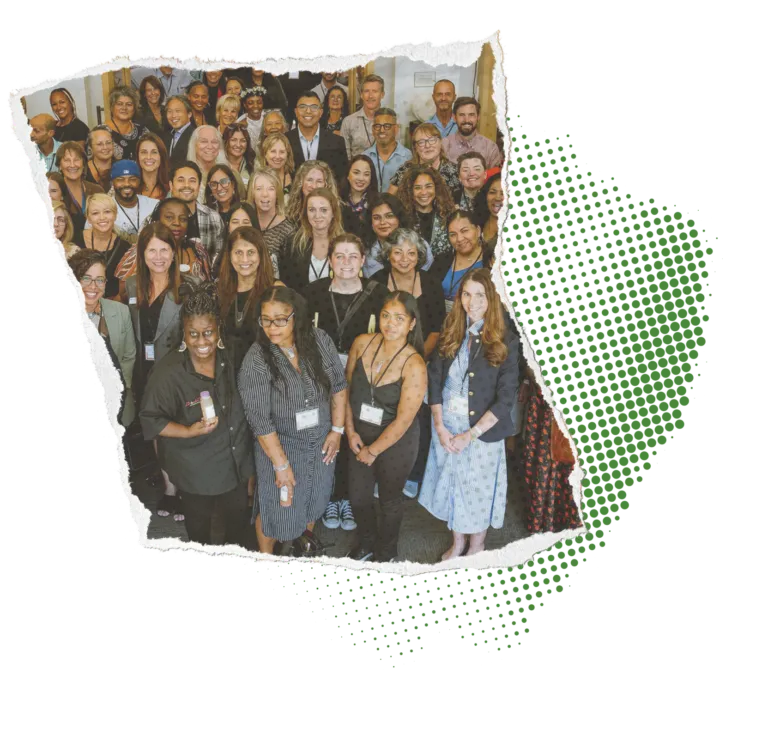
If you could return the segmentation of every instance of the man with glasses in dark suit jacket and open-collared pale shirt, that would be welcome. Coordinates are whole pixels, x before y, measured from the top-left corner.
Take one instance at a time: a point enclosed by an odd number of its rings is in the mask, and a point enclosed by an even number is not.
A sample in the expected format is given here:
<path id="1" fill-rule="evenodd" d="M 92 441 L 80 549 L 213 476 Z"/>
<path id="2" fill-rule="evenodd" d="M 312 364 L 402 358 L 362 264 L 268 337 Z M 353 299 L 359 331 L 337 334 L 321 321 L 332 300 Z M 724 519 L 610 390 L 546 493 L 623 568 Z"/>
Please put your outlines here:
<path id="1" fill-rule="evenodd" d="M 337 183 L 341 183 L 347 174 L 347 148 L 338 135 L 320 129 L 323 105 L 317 93 L 302 93 L 295 113 L 297 127 L 289 131 L 287 137 L 296 167 L 304 161 L 324 161 L 331 167 Z"/>

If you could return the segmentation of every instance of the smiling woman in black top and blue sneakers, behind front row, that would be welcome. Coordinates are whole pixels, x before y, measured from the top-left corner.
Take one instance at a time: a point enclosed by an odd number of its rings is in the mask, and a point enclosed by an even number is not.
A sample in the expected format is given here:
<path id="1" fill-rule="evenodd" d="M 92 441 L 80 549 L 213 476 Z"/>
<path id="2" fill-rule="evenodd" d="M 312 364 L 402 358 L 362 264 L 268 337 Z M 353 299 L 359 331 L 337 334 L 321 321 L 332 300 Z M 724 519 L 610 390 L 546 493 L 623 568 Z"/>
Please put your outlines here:
<path id="1" fill-rule="evenodd" d="M 344 232 L 334 237 L 328 246 L 328 259 L 332 276 L 310 283 L 304 289 L 304 296 L 315 326 L 328 333 L 341 364 L 346 367 L 355 339 L 361 334 L 376 332 L 387 289 L 360 276 L 365 247 L 356 235 Z M 323 514 L 323 523 L 327 528 L 341 526 L 345 531 L 352 531 L 356 524 L 349 503 L 347 453 L 348 447 L 342 447 L 336 485 Z"/>

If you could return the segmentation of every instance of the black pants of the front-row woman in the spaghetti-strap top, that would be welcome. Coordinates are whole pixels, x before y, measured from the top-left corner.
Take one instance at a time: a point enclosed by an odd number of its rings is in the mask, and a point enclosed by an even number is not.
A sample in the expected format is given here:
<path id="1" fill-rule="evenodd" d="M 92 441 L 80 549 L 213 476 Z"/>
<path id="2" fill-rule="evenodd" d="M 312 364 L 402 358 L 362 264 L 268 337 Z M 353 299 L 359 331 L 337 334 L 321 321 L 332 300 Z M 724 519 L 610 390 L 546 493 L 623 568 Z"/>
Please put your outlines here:
<path id="1" fill-rule="evenodd" d="M 360 438 L 370 446 L 381 431 L 360 425 Z M 368 467 L 349 452 L 349 500 L 355 514 L 360 545 L 375 551 L 377 558 L 388 560 L 397 555 L 397 539 L 403 521 L 403 487 L 411 474 L 419 452 L 419 421 L 414 419 L 400 441 L 382 452 Z M 376 532 L 373 486 L 379 484 L 382 522 Z M 378 546 L 378 548 L 375 548 Z"/>

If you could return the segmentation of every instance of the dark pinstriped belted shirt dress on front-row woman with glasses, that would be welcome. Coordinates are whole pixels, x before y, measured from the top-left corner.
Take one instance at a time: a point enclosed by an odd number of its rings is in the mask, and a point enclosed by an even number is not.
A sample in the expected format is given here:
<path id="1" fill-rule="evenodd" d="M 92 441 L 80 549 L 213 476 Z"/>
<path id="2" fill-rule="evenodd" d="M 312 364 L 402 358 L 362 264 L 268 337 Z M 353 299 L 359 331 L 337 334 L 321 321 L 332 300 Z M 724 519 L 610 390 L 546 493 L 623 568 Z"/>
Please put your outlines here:
<path id="1" fill-rule="evenodd" d="M 346 389 L 347 381 L 331 338 L 322 329 L 313 329 L 323 370 L 331 382 L 331 392 Z M 280 380 L 275 383 L 265 358 L 270 350 Z M 299 355 L 301 375 L 294 370 L 282 350 L 275 345 L 251 346 L 238 376 L 245 415 L 255 437 L 277 433 L 291 464 L 296 487 L 290 507 L 280 505 L 280 491 L 275 486 L 272 461 L 255 442 L 256 477 L 262 529 L 269 538 L 293 541 L 308 523 L 323 515 L 333 489 L 335 464 L 323 464 L 321 454 L 331 431 L 331 397 L 309 375 L 307 364 Z M 298 431 L 296 414 L 319 409 L 318 425 Z M 255 505 L 255 504 L 254 504 Z"/>

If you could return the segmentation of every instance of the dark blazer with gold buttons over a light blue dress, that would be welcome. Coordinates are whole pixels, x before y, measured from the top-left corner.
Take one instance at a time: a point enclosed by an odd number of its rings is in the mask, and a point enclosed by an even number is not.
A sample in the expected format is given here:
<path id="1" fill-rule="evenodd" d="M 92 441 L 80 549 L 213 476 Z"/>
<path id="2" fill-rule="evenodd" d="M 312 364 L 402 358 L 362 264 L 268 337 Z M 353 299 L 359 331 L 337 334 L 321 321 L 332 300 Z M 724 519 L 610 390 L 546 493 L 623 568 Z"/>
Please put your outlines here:
<path id="1" fill-rule="evenodd" d="M 511 412 L 520 382 L 520 340 L 510 329 L 506 332 L 506 343 L 507 359 L 499 367 L 493 367 L 485 359 L 479 336 L 470 344 L 469 425 L 474 426 L 488 410 L 499 419 L 480 437 L 484 442 L 501 441 L 514 433 Z M 438 350 L 432 353 L 427 366 L 430 406 L 442 405 L 443 387 L 452 364 L 453 358 L 440 357 Z"/>

